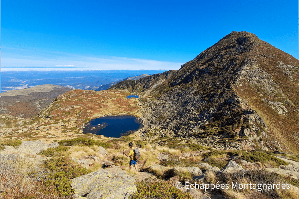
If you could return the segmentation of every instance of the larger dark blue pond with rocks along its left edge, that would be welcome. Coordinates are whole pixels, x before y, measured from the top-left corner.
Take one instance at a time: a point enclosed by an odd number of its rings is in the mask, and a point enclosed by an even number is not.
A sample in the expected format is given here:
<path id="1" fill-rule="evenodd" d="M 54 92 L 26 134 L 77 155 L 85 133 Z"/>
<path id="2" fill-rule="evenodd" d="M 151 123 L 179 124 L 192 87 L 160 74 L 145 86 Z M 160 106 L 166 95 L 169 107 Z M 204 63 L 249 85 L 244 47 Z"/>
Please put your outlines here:
<path id="1" fill-rule="evenodd" d="M 83 128 L 83 133 L 120 137 L 129 135 L 140 127 L 141 123 L 134 116 L 106 116 L 89 121 Z"/>

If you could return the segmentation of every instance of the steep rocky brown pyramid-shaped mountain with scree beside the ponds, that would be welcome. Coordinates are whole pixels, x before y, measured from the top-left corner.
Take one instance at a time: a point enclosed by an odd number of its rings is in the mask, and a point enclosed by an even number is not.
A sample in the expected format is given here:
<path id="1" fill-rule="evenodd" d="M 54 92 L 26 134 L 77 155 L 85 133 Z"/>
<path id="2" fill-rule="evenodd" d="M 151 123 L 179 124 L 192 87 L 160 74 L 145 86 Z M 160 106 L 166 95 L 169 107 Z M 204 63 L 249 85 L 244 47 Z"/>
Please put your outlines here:
<path id="1" fill-rule="evenodd" d="M 152 75 L 113 89 L 151 97 L 144 121 L 168 130 L 161 136 L 213 142 L 221 150 L 234 145 L 225 139 L 244 136 L 243 148 L 298 152 L 298 74 L 296 58 L 233 31 L 168 78 Z"/>

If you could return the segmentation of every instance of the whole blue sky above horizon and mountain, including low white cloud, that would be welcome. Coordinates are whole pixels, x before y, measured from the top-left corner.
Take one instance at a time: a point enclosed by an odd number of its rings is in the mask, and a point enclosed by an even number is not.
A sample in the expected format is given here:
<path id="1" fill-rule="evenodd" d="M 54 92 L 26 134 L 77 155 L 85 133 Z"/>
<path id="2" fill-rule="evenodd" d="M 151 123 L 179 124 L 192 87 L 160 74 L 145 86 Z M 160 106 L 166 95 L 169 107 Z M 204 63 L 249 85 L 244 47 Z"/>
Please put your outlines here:
<path id="1" fill-rule="evenodd" d="M 4 68 L 179 69 L 231 31 L 298 59 L 298 1 L 1 1 Z"/>

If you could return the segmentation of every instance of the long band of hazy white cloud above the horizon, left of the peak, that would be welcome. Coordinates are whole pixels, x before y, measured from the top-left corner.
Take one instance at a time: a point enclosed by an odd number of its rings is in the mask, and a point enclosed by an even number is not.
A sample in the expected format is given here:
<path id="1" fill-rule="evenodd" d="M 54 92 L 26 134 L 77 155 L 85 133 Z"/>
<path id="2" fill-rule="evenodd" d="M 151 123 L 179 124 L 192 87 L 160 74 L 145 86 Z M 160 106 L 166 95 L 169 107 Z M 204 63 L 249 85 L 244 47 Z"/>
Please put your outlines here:
<path id="1" fill-rule="evenodd" d="M 42 57 L 7 57 L 1 54 L 1 71 L 45 70 L 178 70 L 183 63 L 145 60 L 129 57 L 68 56 L 49 59 Z M 66 62 L 67 65 L 59 65 Z M 76 67 L 74 67 L 76 66 Z M 62 68 L 59 68 L 62 67 Z M 74 68 L 63 68 L 74 67 Z"/>

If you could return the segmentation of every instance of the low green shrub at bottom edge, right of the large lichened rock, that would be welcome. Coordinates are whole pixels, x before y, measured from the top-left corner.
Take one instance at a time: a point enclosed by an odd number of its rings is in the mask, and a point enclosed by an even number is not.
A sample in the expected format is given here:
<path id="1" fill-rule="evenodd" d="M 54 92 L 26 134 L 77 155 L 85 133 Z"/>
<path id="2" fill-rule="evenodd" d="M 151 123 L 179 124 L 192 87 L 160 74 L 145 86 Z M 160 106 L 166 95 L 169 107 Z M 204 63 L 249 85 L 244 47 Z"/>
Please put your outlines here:
<path id="1" fill-rule="evenodd" d="M 130 195 L 130 199 L 192 199 L 189 193 L 184 193 L 176 187 L 158 180 L 143 180 L 136 183 L 137 192 Z"/>

